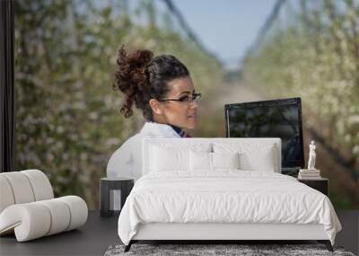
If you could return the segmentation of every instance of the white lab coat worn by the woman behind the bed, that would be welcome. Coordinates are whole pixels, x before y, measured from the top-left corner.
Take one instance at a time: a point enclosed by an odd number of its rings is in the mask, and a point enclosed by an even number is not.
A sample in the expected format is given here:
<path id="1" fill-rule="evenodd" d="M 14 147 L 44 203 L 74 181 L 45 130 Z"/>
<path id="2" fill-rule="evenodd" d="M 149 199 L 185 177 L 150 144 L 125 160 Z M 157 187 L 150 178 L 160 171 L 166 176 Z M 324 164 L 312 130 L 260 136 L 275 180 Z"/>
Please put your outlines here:
<path id="1" fill-rule="evenodd" d="M 109 158 L 107 177 L 131 177 L 135 181 L 142 176 L 142 140 L 144 137 L 180 137 L 170 125 L 145 122 L 144 127 L 129 137 Z"/>

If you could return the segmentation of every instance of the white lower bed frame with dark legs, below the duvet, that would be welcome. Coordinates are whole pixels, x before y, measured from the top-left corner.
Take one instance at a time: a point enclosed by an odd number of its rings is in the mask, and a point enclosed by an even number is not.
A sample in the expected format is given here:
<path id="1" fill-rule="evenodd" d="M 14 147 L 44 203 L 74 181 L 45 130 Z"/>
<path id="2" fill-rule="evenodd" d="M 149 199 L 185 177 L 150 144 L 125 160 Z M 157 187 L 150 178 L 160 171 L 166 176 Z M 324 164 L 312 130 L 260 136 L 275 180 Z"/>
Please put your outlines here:
<path id="1" fill-rule="evenodd" d="M 324 232 L 323 225 L 297 224 L 215 224 L 215 223 L 153 223 L 142 224 L 133 239 L 125 247 L 128 252 L 131 245 L 138 242 L 185 242 L 193 243 L 258 243 L 263 241 L 288 242 L 314 240 L 324 243 L 329 252 L 333 247 Z"/>

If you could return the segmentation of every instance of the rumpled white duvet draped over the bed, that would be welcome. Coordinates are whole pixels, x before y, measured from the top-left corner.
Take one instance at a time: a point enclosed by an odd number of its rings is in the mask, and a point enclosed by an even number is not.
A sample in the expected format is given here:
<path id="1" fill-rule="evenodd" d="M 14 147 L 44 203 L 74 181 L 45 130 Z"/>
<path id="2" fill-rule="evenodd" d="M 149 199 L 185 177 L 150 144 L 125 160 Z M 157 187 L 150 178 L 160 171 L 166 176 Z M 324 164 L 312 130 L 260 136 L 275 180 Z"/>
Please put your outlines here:
<path id="1" fill-rule="evenodd" d="M 282 223 L 321 224 L 334 244 L 341 230 L 327 196 L 276 172 L 223 170 L 153 172 L 136 181 L 118 217 L 128 244 L 138 224 Z"/>

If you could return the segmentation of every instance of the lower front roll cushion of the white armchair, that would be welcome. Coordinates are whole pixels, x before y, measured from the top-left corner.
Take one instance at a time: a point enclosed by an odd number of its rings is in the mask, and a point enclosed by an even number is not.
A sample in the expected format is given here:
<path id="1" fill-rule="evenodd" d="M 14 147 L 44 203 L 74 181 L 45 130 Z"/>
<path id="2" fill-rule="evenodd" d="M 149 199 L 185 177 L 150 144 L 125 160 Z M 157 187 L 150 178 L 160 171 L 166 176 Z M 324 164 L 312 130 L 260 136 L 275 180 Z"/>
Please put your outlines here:
<path id="1" fill-rule="evenodd" d="M 17 241 L 25 242 L 77 228 L 87 216 L 86 203 L 76 196 L 15 204 L 0 214 L 0 234 L 14 231 Z"/>

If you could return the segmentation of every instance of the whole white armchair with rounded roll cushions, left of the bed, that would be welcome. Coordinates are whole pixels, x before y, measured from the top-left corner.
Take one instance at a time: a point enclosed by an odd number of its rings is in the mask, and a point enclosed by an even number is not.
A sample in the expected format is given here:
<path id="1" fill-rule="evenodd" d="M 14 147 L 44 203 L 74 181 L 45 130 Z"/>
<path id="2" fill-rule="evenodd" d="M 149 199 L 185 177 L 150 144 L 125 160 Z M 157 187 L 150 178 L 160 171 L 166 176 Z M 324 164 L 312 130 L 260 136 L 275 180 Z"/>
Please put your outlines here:
<path id="1" fill-rule="evenodd" d="M 0 235 L 15 233 L 18 242 L 57 234 L 84 225 L 83 199 L 54 199 L 48 177 L 39 170 L 0 173 Z"/>

